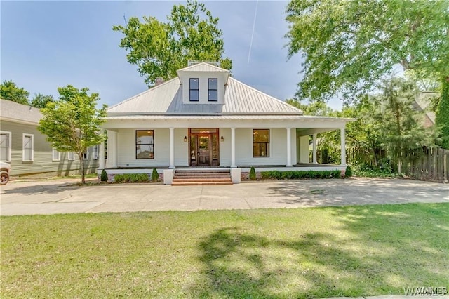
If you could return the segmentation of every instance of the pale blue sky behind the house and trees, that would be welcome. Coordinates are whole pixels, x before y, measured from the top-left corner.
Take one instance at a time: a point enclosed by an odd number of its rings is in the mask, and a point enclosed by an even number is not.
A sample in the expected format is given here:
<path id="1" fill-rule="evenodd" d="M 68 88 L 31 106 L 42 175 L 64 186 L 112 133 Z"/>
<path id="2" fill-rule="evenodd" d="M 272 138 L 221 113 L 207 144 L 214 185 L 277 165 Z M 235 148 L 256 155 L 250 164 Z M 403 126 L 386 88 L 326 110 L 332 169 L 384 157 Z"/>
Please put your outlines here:
<path id="1" fill-rule="evenodd" d="M 288 60 L 287 1 L 201 1 L 220 18 L 232 74 L 279 100 L 292 98 L 302 75 L 300 55 Z M 166 21 L 179 1 L 0 1 L 0 79 L 58 98 L 58 87 L 88 87 L 108 106 L 147 89 L 119 47 L 112 26 L 124 18 Z M 257 8 L 257 10 L 256 10 Z M 254 28 L 254 30 L 253 30 Z M 252 41 L 252 42 L 251 42 Z M 330 100 L 340 109 L 341 100 Z"/>

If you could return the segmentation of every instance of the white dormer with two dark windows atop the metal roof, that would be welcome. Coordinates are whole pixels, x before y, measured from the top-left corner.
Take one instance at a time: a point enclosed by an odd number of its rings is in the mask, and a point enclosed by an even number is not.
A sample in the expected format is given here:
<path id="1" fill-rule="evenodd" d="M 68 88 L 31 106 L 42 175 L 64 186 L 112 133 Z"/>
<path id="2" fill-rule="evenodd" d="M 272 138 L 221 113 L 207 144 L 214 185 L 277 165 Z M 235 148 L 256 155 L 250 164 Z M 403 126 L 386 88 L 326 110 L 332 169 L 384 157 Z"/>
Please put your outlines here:
<path id="1" fill-rule="evenodd" d="M 177 71 L 182 84 L 182 103 L 187 105 L 225 104 L 225 85 L 229 71 L 206 62 Z"/>

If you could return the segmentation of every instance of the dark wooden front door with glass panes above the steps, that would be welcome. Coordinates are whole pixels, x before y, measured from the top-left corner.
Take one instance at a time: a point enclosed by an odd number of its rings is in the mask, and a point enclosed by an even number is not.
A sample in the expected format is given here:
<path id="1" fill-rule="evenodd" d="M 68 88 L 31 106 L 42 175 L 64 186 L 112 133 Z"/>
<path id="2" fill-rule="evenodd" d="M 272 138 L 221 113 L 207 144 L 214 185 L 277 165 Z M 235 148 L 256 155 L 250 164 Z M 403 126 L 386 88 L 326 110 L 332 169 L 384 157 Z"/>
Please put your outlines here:
<path id="1" fill-rule="evenodd" d="M 189 131 L 190 166 L 218 166 L 218 129 Z"/>

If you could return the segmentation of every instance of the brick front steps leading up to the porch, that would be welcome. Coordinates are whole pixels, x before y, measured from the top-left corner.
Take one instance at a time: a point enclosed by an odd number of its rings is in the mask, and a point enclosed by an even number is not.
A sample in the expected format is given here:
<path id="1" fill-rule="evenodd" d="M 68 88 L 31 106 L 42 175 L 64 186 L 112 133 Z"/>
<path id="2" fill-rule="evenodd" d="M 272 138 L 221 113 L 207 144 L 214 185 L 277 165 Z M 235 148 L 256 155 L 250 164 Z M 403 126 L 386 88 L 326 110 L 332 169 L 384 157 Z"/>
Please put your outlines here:
<path id="1" fill-rule="evenodd" d="M 232 185 L 229 169 L 176 169 L 173 186 Z"/>

